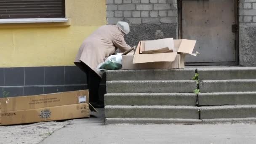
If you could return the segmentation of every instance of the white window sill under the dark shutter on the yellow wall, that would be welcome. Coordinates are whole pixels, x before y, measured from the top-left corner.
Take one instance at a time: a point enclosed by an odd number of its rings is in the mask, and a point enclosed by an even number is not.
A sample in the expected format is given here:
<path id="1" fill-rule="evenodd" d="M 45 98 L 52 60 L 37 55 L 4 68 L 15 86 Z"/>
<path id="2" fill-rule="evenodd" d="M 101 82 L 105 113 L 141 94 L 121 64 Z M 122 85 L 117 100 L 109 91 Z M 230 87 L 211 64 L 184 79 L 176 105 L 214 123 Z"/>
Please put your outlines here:
<path id="1" fill-rule="evenodd" d="M 0 29 L 18 27 L 68 27 L 70 25 L 71 19 L 67 18 L 0 19 Z"/>

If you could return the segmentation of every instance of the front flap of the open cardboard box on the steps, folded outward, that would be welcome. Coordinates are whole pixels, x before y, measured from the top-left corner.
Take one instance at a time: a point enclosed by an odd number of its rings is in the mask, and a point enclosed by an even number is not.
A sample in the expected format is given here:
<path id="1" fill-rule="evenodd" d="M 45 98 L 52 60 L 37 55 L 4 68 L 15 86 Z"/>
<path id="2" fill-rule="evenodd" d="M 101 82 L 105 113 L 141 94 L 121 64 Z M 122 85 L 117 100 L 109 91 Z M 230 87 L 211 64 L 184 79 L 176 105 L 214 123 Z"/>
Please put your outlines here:
<path id="1" fill-rule="evenodd" d="M 177 53 L 154 53 L 154 54 L 135 54 L 133 64 L 157 62 L 157 61 L 174 61 Z"/>

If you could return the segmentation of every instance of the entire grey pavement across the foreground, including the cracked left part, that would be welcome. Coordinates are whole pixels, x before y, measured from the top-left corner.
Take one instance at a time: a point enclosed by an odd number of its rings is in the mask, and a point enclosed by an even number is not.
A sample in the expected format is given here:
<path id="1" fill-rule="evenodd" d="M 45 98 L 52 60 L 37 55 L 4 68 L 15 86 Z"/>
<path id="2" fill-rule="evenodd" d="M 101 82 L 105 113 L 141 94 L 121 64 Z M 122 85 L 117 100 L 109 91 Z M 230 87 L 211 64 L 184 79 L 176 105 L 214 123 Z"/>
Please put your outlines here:
<path id="1" fill-rule="evenodd" d="M 0 144 L 256 144 L 256 123 L 104 125 L 90 118 L 0 126 Z"/>

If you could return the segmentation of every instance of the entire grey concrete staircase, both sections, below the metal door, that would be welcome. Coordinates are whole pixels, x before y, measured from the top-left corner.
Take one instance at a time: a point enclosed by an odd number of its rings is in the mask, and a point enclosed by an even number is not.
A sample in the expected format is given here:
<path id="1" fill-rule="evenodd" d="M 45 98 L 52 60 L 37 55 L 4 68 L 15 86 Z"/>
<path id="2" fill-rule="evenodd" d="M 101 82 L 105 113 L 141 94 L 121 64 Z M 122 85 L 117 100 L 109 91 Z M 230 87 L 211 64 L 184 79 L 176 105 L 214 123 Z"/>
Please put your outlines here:
<path id="1" fill-rule="evenodd" d="M 256 68 L 107 71 L 104 100 L 106 124 L 254 121 Z"/>

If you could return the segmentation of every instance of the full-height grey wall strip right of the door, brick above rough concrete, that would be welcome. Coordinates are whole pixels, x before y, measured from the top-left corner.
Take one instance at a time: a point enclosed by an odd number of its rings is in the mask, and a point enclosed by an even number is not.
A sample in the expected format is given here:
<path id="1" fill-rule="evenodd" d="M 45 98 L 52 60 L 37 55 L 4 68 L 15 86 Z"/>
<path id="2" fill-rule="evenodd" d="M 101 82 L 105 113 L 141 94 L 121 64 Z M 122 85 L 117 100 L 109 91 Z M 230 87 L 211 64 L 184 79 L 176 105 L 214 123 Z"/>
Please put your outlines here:
<path id="1" fill-rule="evenodd" d="M 256 66 L 256 0 L 240 0 L 239 63 Z"/>

